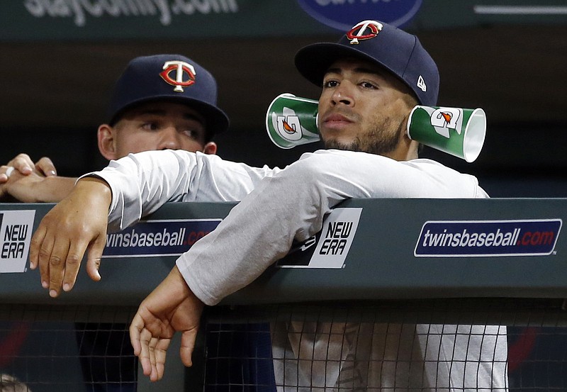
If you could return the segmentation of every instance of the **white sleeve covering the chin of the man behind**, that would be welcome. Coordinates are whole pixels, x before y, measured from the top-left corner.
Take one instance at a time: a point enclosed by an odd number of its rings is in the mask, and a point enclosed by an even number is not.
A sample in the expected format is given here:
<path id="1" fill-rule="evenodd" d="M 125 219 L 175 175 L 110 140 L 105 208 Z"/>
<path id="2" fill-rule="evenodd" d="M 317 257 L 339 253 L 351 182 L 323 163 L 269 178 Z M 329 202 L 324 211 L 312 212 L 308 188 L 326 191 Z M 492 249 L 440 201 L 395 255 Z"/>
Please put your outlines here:
<path id="1" fill-rule="evenodd" d="M 130 154 L 86 175 L 111 187 L 108 225 L 121 230 L 168 201 L 240 201 L 276 172 L 279 169 L 249 167 L 216 155 L 164 150 Z"/>

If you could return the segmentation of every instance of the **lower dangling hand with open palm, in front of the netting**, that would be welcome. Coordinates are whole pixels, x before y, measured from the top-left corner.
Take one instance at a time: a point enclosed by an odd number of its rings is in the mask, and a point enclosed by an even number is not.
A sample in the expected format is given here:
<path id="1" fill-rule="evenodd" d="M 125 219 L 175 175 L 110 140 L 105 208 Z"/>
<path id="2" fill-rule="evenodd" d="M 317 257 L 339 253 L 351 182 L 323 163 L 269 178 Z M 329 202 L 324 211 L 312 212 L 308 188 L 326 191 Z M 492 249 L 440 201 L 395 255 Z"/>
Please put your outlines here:
<path id="1" fill-rule="evenodd" d="M 191 366 L 201 313 L 203 303 L 177 267 L 142 301 L 130 325 L 130 342 L 151 381 L 162 379 L 167 347 L 176 331 L 182 334 L 181 362 Z"/>

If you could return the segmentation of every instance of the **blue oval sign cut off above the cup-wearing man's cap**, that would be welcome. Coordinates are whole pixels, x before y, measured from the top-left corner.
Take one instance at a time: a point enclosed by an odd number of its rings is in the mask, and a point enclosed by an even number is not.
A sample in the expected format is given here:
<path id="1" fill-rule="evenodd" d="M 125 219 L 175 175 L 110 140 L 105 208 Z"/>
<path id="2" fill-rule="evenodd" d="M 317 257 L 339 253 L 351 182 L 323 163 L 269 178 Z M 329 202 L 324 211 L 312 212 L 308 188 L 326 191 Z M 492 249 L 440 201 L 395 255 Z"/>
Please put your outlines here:
<path id="1" fill-rule="evenodd" d="M 298 0 L 301 8 L 316 20 L 347 31 L 359 21 L 381 21 L 404 26 L 420 9 L 422 0 Z"/>

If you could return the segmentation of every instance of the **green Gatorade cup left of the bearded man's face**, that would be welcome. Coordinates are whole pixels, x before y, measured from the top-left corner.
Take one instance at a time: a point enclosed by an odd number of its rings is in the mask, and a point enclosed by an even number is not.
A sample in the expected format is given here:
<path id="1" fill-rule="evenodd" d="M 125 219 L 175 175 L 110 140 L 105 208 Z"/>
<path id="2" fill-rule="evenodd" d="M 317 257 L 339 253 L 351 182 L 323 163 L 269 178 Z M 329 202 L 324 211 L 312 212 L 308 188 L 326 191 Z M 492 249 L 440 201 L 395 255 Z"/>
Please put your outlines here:
<path id="1" fill-rule="evenodd" d="M 317 142 L 318 101 L 284 93 L 271 101 L 266 112 L 266 130 L 281 148 Z"/>

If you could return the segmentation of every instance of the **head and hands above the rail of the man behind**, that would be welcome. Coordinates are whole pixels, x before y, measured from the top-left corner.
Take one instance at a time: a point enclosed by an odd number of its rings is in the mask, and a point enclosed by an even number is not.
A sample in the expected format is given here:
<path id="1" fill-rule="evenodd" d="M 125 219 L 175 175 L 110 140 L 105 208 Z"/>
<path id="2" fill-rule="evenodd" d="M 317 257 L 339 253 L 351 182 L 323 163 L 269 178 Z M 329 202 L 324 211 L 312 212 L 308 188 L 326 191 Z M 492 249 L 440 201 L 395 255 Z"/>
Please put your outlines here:
<path id="1" fill-rule="evenodd" d="M 217 106 L 215 78 L 207 69 L 182 55 L 136 57 L 114 86 L 106 123 L 97 133 L 99 151 L 109 161 L 149 150 L 215 154 L 213 136 L 227 130 L 228 124 L 228 116 Z M 12 180 L 0 186 L 0 197 L 57 202 L 77 181 L 55 177 L 49 158 L 33 164 L 28 155 L 20 154 L 0 167 L 0 184 L 14 170 L 28 178 L 19 176 L 19 183 Z M 45 177 L 50 178 L 43 181 Z"/>

